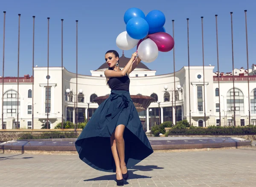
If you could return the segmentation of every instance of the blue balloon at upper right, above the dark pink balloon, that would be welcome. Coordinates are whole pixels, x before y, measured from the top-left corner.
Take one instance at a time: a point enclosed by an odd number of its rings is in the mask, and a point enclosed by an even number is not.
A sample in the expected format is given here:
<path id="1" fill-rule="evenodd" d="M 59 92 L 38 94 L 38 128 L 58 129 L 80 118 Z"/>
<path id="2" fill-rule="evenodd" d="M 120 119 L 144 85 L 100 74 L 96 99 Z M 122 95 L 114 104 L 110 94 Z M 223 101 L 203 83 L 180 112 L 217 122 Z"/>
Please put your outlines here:
<path id="1" fill-rule="evenodd" d="M 147 14 L 145 20 L 148 22 L 149 32 L 155 33 L 164 26 L 166 18 L 163 12 L 152 10 Z"/>

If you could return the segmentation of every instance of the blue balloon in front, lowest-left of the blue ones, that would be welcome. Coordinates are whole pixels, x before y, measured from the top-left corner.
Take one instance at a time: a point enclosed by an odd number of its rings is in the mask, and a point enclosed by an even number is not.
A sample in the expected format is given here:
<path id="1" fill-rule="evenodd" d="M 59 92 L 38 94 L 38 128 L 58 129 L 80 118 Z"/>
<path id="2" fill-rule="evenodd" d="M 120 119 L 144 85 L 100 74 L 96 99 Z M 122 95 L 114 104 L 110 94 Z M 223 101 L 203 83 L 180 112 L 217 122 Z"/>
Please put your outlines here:
<path id="1" fill-rule="evenodd" d="M 133 39 L 140 40 L 148 35 L 148 23 L 141 17 L 133 17 L 126 24 L 126 31 Z"/>

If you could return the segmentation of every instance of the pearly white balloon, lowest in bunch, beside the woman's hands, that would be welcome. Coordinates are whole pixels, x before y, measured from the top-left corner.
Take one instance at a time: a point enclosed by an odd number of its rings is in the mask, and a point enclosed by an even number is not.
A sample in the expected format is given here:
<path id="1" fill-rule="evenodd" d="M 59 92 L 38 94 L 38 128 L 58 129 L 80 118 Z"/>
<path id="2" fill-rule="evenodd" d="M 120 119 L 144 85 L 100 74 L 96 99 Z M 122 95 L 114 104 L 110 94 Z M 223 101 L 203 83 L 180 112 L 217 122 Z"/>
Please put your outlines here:
<path id="1" fill-rule="evenodd" d="M 153 62 L 158 56 L 157 44 L 149 38 L 143 40 L 138 47 L 138 56 L 143 62 Z"/>

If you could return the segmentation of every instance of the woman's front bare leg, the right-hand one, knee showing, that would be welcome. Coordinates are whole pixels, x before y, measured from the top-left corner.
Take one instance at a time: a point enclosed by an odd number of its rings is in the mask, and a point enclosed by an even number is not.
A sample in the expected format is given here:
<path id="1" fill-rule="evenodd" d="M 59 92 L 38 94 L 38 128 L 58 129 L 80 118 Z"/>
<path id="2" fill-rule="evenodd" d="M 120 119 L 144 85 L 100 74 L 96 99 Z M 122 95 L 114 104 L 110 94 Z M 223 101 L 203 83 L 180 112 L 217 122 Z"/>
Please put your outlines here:
<path id="1" fill-rule="evenodd" d="M 123 137 L 124 131 L 125 131 L 125 125 L 118 125 L 115 130 L 116 147 L 117 147 L 117 153 L 120 160 L 120 168 L 121 168 L 122 174 L 127 173 L 127 168 L 125 164 L 125 141 Z"/>

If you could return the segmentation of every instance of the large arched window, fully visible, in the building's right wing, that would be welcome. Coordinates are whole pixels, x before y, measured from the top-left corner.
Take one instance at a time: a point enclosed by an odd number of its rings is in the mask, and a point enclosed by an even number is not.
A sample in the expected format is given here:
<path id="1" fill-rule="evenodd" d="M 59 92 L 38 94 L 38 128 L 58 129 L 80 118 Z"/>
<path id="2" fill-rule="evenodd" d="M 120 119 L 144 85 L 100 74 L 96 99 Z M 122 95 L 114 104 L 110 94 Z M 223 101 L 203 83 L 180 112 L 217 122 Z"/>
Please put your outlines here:
<path id="1" fill-rule="evenodd" d="M 234 95 L 235 95 L 235 108 L 234 108 Z M 243 114 L 244 113 L 244 94 L 238 88 L 235 88 L 235 92 L 233 88 L 231 88 L 227 92 L 227 109 L 228 111 L 236 110 L 236 114 Z"/>

